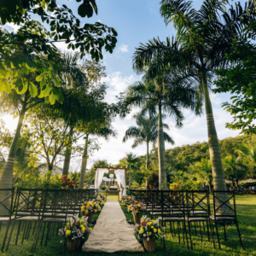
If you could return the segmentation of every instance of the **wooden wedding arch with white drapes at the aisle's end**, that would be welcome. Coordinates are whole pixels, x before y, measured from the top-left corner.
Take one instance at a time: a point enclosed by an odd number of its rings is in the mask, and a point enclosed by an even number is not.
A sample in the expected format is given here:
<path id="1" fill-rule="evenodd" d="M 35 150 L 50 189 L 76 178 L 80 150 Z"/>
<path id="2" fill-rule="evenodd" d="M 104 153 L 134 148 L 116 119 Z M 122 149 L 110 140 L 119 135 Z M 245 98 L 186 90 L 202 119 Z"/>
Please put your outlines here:
<path id="1" fill-rule="evenodd" d="M 115 174 L 117 183 L 119 184 L 119 188 L 124 188 L 123 195 L 126 195 L 126 170 L 128 170 L 128 168 L 95 166 L 95 169 L 95 189 L 100 187 L 105 173 L 113 172 Z"/>

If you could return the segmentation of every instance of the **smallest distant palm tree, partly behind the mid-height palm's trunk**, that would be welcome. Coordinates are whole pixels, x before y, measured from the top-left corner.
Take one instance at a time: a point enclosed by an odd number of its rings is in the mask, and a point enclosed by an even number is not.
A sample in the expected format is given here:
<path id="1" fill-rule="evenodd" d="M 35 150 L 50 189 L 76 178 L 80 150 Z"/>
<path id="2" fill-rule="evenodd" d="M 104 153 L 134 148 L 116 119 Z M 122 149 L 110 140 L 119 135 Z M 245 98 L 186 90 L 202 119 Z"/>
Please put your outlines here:
<path id="1" fill-rule="evenodd" d="M 125 143 L 129 138 L 135 138 L 134 143 L 131 148 L 136 148 L 139 144 L 147 144 L 147 159 L 146 159 L 146 169 L 149 165 L 149 143 L 154 143 L 157 141 L 158 136 L 158 116 L 143 116 L 142 113 L 134 115 L 136 119 L 137 126 L 130 126 L 127 131 L 125 131 L 125 137 L 123 138 L 123 143 Z M 164 116 L 163 116 L 164 118 Z M 163 124 L 163 127 L 169 130 L 169 126 Z M 170 137 L 166 132 L 164 132 L 164 139 L 168 143 L 174 144 L 172 137 Z"/>

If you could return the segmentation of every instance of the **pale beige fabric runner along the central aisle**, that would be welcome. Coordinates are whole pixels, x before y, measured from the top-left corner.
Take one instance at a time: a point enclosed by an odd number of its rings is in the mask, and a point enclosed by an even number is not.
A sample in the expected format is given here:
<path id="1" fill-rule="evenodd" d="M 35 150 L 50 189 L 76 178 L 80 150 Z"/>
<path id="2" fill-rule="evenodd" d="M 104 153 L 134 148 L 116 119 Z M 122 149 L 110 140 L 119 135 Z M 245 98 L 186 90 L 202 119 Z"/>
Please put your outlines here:
<path id="1" fill-rule="evenodd" d="M 83 252 L 115 253 L 144 252 L 143 246 L 133 235 L 133 226 L 127 224 L 118 201 L 108 200 L 97 219 Z"/>

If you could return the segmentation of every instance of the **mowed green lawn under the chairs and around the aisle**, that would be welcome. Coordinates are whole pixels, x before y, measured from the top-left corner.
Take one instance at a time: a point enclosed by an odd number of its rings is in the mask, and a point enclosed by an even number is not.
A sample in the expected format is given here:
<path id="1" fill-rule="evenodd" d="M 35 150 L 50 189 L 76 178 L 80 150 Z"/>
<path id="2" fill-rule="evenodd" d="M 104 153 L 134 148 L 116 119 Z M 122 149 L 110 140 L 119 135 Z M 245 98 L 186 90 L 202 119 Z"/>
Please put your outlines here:
<path id="1" fill-rule="evenodd" d="M 109 195 L 109 200 L 117 200 L 116 195 Z M 227 230 L 227 238 L 228 241 L 224 241 L 224 230 L 221 226 L 219 227 L 220 239 L 221 239 L 221 246 L 222 250 L 218 249 L 218 241 L 217 236 L 215 234 L 215 243 L 216 249 L 212 247 L 212 241 L 208 241 L 207 239 L 207 232 L 203 233 L 203 242 L 201 242 L 201 236 L 199 233 L 197 236 L 192 236 L 193 251 L 187 249 L 186 244 L 183 244 L 182 234 L 181 234 L 181 243 L 178 243 L 178 236 L 176 230 L 176 236 L 173 236 L 170 233 L 166 234 L 166 251 L 163 249 L 163 245 L 160 241 L 156 242 L 156 252 L 155 253 L 145 253 L 154 256 L 160 255 L 256 255 L 256 196 L 255 195 L 237 195 L 236 196 L 236 207 L 237 207 L 237 215 L 238 215 L 238 222 L 239 228 L 241 230 L 241 239 L 243 242 L 243 246 L 245 250 L 242 250 L 240 247 L 239 238 L 236 231 L 236 225 L 230 225 L 226 227 Z M 125 212 L 126 207 L 122 207 Z M 96 214 L 94 218 L 97 218 L 99 214 Z M 128 219 L 133 219 L 131 213 L 125 212 L 125 217 Z M 0 245 L 2 246 L 3 241 L 3 234 L 5 231 L 5 225 L 1 230 L 0 236 Z M 168 225 L 167 231 L 169 232 Z M 40 246 L 38 243 L 36 253 L 31 253 L 32 247 L 32 235 L 29 237 L 28 240 L 24 240 L 24 244 L 21 245 L 21 235 L 18 241 L 18 245 L 15 246 L 15 237 L 17 232 L 17 225 L 15 225 L 15 232 L 12 236 L 9 251 L 0 253 L 0 255 L 18 255 L 18 256 L 28 256 L 28 255 L 84 255 L 83 252 L 77 253 L 68 253 L 67 247 L 62 249 L 62 253 L 60 253 L 60 241 L 61 237 L 59 236 L 52 236 L 48 242 L 47 247 Z M 105 253 L 86 253 L 86 255 L 93 256 L 93 255 L 107 255 Z M 142 253 L 115 253 L 115 255 L 142 255 Z"/>

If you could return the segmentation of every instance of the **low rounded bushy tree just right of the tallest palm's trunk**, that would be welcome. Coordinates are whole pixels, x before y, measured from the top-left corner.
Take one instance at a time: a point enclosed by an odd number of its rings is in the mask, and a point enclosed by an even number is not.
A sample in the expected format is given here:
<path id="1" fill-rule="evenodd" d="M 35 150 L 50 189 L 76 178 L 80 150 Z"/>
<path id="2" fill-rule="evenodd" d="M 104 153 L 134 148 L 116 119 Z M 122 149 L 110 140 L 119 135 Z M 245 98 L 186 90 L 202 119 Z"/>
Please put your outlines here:
<path id="1" fill-rule="evenodd" d="M 236 155 L 227 155 L 223 160 L 224 175 L 232 180 L 233 186 L 238 187 L 238 181 L 246 176 L 247 166 L 241 163 L 241 159 Z"/>

